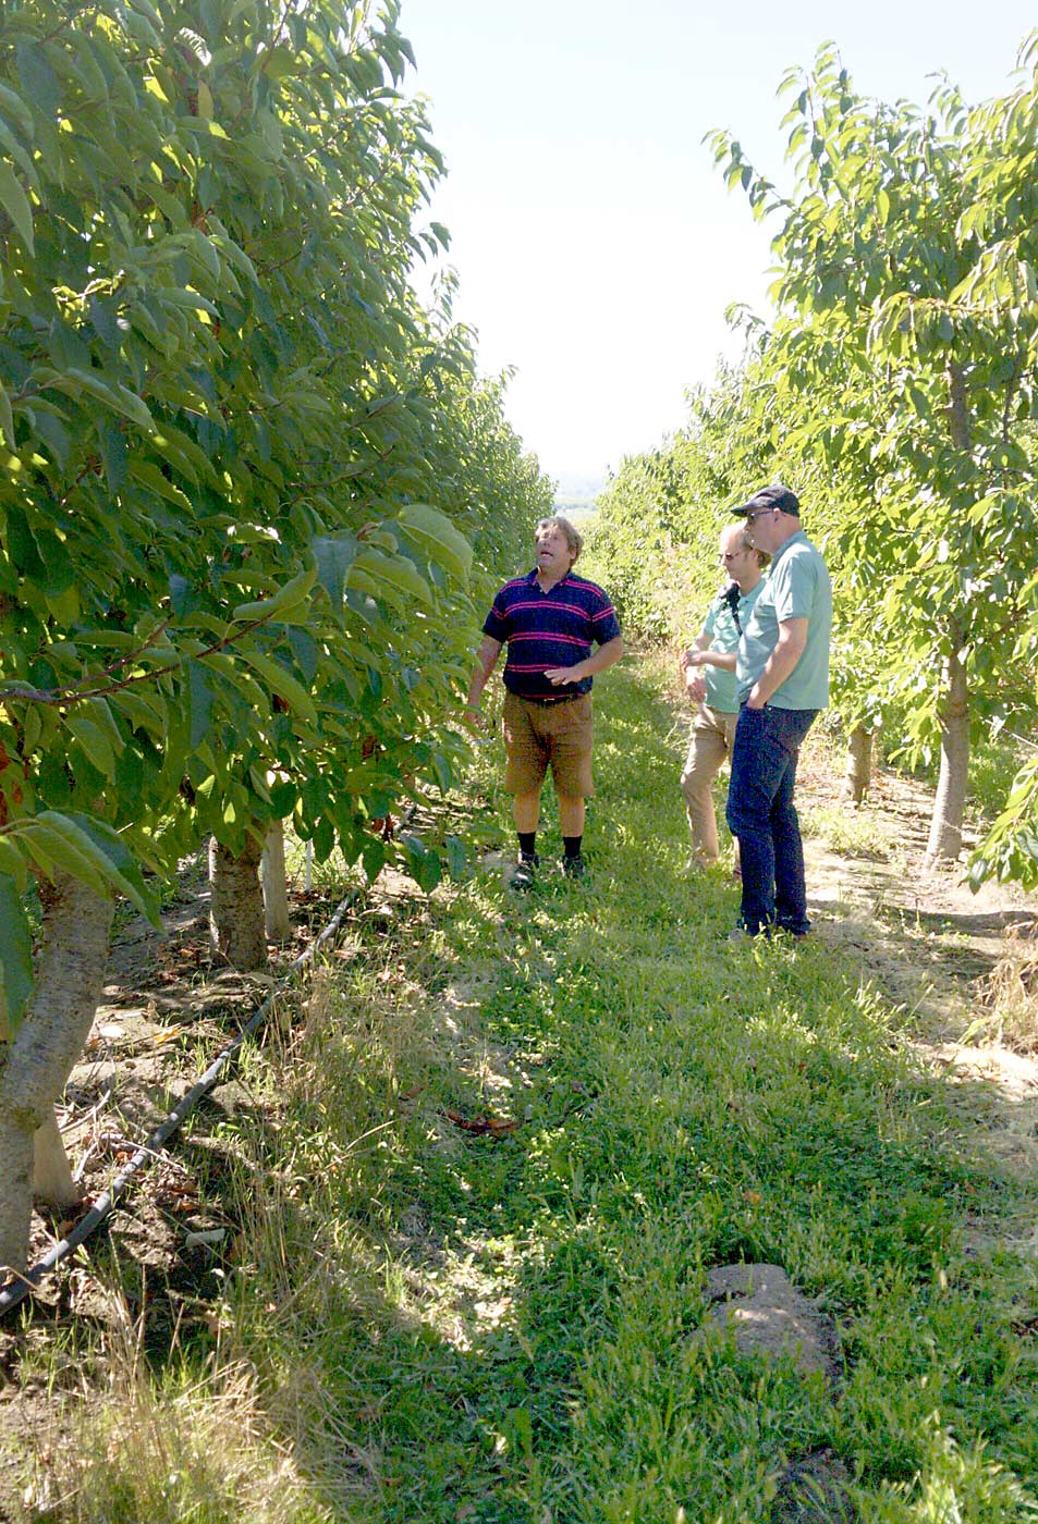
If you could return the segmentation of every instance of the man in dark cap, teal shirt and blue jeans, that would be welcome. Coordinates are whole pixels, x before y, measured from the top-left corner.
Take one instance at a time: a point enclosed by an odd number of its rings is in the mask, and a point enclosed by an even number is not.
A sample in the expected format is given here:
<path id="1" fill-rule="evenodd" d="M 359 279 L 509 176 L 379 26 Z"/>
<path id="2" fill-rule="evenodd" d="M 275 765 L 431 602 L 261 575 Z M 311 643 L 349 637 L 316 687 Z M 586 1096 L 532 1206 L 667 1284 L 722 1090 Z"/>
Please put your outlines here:
<path id="1" fill-rule="evenodd" d="M 793 786 L 800 742 L 829 703 L 832 585 L 788 488 L 765 486 L 733 512 L 750 543 L 771 556 L 735 664 L 739 719 L 727 821 L 739 841 L 742 905 L 733 937 L 771 936 L 773 928 L 802 937 L 811 922 Z"/>

